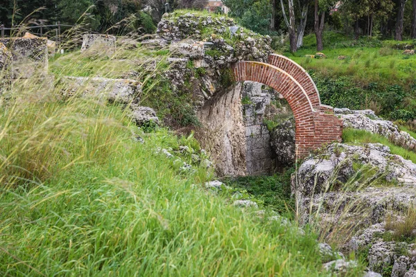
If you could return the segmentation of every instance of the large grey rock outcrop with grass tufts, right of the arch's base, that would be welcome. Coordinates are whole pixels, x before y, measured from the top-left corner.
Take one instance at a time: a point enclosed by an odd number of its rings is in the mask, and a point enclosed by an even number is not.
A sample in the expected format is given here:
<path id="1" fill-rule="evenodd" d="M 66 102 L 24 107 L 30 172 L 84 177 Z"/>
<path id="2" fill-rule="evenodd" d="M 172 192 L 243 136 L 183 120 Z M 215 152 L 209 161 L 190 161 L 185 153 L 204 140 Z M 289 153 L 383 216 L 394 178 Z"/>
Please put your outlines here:
<path id="1" fill-rule="evenodd" d="M 412 276 L 414 245 L 393 240 L 385 221 L 415 206 L 416 164 L 379 143 L 333 143 L 302 163 L 292 190 L 302 224 L 319 224 L 324 238 L 345 252 L 368 251 L 372 271 Z"/>

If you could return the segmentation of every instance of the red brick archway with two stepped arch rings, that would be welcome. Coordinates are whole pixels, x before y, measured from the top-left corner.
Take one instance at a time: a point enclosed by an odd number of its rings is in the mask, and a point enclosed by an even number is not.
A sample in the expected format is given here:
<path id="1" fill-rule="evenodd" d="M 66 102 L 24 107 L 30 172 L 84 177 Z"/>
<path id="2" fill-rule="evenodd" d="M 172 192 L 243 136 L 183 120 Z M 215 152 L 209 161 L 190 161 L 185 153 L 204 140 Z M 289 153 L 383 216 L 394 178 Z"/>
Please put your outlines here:
<path id="1" fill-rule="evenodd" d="M 272 64 L 237 62 L 232 69 L 237 82 L 261 82 L 286 98 L 295 116 L 298 157 L 306 157 L 324 143 L 340 141 L 343 122 L 333 115 L 332 107 L 321 105 L 318 89 L 306 71 L 280 55 L 270 55 L 269 61 Z"/>

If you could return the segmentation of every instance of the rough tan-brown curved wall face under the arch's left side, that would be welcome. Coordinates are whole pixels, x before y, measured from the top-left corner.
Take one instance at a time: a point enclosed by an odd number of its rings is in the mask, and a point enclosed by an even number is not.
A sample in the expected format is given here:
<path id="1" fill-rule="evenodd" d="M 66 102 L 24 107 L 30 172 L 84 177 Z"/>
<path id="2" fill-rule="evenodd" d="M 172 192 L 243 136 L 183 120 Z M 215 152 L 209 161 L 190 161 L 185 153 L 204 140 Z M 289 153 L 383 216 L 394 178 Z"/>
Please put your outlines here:
<path id="1" fill-rule="evenodd" d="M 243 176 L 246 171 L 245 126 L 241 106 L 241 84 L 217 94 L 198 111 L 204 126 L 202 145 L 209 150 L 219 176 Z"/>

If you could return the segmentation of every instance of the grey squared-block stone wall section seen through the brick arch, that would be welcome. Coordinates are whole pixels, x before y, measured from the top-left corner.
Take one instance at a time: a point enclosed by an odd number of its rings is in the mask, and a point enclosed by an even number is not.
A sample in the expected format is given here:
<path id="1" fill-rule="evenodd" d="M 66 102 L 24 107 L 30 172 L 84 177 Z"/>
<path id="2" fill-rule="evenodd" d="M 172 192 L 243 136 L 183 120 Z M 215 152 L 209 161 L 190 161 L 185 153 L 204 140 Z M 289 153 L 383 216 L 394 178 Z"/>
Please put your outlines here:
<path id="1" fill-rule="evenodd" d="M 273 170 L 270 134 L 263 124 L 266 106 L 270 105 L 270 93 L 263 93 L 263 84 L 244 82 L 241 91 L 243 121 L 245 126 L 247 175 L 268 175 Z"/>

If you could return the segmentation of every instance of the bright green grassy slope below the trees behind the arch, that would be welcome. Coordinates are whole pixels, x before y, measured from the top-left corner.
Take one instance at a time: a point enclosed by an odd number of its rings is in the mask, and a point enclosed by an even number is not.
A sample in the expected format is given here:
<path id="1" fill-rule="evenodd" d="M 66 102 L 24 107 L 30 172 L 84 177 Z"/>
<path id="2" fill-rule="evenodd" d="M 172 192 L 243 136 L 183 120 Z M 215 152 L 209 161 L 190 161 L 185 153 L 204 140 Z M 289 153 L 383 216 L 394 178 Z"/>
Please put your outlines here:
<path id="1" fill-rule="evenodd" d="M 400 44 L 414 44 L 413 41 Z M 304 38 L 304 46 L 288 57 L 308 70 L 319 71 L 331 77 L 352 76 L 363 84 L 383 82 L 387 84 L 405 84 L 415 80 L 416 56 L 405 56 L 403 50 L 395 49 L 395 42 L 381 42 L 376 39 L 354 41 L 335 32 L 324 33 L 324 50 L 327 59 L 310 59 L 305 55 L 315 55 L 315 35 Z M 345 60 L 338 60 L 343 55 Z"/>

